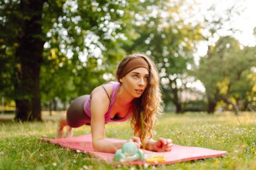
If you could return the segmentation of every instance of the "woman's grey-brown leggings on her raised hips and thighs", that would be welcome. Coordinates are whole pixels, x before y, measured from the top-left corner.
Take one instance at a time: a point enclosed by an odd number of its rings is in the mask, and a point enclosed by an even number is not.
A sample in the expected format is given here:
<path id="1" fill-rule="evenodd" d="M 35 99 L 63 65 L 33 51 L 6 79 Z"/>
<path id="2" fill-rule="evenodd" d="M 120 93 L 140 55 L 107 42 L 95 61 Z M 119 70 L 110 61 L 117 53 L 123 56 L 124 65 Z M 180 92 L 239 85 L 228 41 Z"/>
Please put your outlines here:
<path id="1" fill-rule="evenodd" d="M 90 95 L 82 95 L 73 100 L 67 109 L 67 125 L 78 128 L 84 124 L 90 125 L 90 117 L 84 112 L 84 102 Z M 88 122 L 89 121 L 89 122 Z"/>

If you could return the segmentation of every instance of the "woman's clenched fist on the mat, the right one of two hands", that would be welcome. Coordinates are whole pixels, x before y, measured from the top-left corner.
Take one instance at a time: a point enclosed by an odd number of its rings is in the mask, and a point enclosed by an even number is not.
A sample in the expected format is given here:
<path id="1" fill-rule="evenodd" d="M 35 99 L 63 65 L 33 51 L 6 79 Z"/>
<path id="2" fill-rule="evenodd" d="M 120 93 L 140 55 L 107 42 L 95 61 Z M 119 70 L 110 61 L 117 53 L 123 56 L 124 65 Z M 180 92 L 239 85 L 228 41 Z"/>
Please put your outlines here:
<path id="1" fill-rule="evenodd" d="M 154 141 L 153 148 L 156 152 L 169 152 L 172 150 L 172 140 L 169 138 L 158 138 Z"/>

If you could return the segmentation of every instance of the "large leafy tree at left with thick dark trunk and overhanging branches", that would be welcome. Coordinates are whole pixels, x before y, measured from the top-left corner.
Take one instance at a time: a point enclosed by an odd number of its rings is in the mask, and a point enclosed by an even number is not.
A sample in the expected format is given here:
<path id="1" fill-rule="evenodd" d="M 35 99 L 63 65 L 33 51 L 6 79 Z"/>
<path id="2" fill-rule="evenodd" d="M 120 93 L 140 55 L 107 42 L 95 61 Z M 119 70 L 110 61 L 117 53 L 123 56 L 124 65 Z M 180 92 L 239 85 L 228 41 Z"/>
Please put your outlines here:
<path id="1" fill-rule="evenodd" d="M 92 49 L 104 51 L 108 43 L 119 38 L 123 28 L 121 17 L 127 5 L 126 1 L 1 1 L 0 39 L 1 56 L 4 56 L 1 78 L 4 81 L 0 87 L 4 95 L 15 99 L 16 120 L 41 120 L 42 67 L 44 73 L 47 68 L 55 68 L 55 72 L 66 64 L 61 61 L 67 57 L 71 63 L 62 71 L 77 73 L 85 65 L 92 65 L 85 75 L 90 69 L 99 72 L 96 60 L 103 59 Z M 53 54 L 57 54 L 54 59 L 59 63 L 57 67 L 51 62 Z M 86 57 L 84 62 L 79 58 L 82 55 Z M 10 66 L 14 69 L 9 70 Z M 87 80 L 90 78 L 84 79 Z"/>

